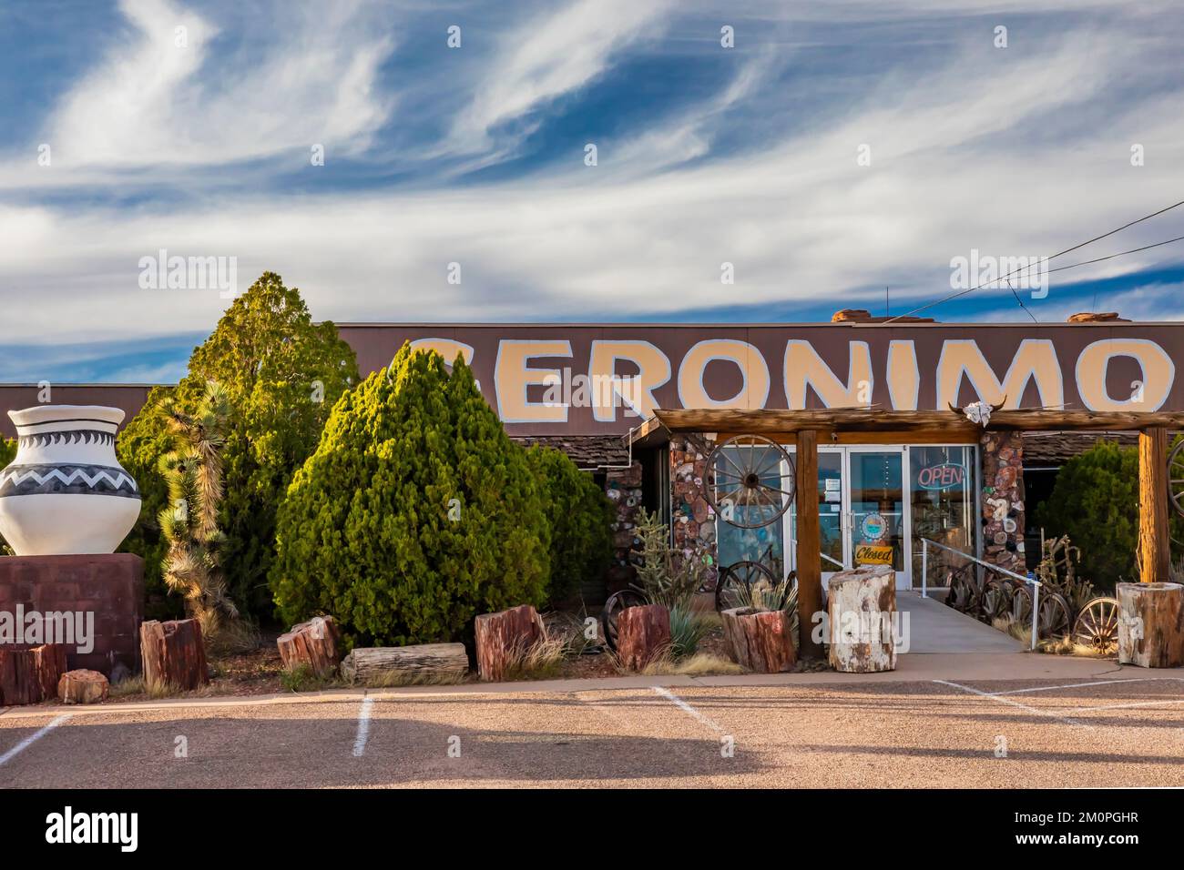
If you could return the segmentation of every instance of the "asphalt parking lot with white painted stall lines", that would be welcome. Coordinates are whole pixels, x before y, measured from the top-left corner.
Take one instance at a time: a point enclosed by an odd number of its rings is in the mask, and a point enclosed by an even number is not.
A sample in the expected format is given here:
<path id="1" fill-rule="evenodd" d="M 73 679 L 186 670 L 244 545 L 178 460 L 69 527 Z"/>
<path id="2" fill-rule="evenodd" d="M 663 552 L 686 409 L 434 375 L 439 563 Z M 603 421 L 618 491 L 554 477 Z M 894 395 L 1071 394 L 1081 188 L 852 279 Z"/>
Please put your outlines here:
<path id="1" fill-rule="evenodd" d="M 0 787 L 1179 786 L 1175 674 L 22 708 Z"/>

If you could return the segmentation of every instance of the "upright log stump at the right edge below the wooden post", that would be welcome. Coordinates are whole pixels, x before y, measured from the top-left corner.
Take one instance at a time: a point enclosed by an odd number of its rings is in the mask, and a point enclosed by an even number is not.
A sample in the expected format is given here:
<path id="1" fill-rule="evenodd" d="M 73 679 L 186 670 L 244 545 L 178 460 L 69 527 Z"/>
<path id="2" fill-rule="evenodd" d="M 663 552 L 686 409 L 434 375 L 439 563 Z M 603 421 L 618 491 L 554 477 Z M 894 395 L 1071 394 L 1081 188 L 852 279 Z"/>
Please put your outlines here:
<path id="1" fill-rule="evenodd" d="M 1184 664 L 1184 586 L 1118 584 L 1118 660 L 1139 668 Z"/>

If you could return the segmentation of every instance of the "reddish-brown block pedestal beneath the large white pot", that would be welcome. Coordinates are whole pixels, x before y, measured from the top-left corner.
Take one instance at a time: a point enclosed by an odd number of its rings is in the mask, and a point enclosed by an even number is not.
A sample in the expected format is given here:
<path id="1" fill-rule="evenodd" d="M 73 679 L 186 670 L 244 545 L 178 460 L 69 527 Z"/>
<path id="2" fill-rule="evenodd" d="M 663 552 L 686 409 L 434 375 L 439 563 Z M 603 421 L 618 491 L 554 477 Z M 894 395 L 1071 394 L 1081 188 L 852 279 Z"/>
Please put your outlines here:
<path id="1" fill-rule="evenodd" d="M 79 651 L 78 638 L 69 643 L 71 669 L 84 668 L 118 678 L 140 670 L 140 623 L 144 608 L 144 563 L 130 553 L 0 556 L 0 620 L 13 625 L 17 614 L 47 617 L 54 630 L 64 625 L 59 614 L 82 614 L 91 649 Z M 49 626 L 45 626 L 49 630 Z M 7 640 L 7 638 L 4 638 Z M 60 638 L 41 638 L 41 642 Z"/>

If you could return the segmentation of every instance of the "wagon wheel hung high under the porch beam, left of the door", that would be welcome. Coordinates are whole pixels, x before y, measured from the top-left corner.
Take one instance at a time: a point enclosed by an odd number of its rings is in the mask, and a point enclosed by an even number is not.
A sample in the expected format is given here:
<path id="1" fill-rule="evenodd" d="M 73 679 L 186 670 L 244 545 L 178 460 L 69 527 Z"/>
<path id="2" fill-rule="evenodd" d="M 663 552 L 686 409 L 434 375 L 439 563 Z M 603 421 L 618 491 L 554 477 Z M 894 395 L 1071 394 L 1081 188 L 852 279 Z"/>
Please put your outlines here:
<path id="1" fill-rule="evenodd" d="M 783 462 L 789 468 L 784 476 Z M 793 463 L 781 445 L 764 436 L 728 438 L 707 457 L 703 489 L 707 503 L 725 522 L 758 529 L 774 522 L 793 503 Z"/>

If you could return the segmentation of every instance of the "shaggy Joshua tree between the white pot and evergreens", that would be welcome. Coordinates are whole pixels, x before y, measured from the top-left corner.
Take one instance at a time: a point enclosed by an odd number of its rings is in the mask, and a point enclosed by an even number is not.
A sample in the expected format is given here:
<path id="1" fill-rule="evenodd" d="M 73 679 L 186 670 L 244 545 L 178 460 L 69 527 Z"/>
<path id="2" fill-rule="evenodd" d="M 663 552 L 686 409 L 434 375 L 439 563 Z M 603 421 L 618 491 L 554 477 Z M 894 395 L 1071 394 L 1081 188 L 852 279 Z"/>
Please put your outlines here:
<path id="1" fill-rule="evenodd" d="M 181 594 L 186 612 L 200 623 L 206 640 L 212 640 L 229 627 L 225 619 L 238 618 L 218 559 L 221 449 L 230 404 L 223 387 L 207 381 L 195 413 L 182 413 L 168 401 L 162 413 L 173 442 L 173 450 L 159 463 L 169 502 L 157 516 L 168 541 L 165 582 Z"/>

